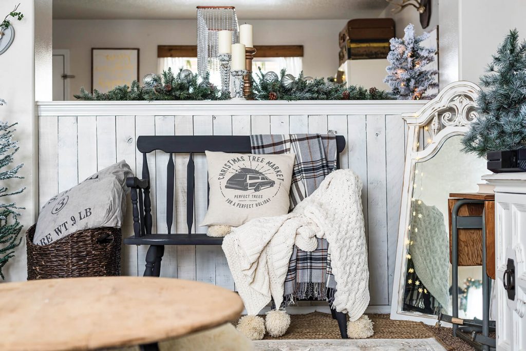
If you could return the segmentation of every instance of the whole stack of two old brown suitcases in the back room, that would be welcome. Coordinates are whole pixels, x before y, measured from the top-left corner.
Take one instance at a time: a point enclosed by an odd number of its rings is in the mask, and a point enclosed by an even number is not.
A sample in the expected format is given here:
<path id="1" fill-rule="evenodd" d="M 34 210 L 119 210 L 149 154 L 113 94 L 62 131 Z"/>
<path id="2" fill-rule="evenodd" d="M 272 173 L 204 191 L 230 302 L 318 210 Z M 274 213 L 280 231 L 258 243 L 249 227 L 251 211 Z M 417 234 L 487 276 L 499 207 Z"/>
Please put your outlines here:
<path id="1" fill-rule="evenodd" d="M 351 19 L 338 35 L 340 66 L 346 60 L 386 58 L 394 36 L 392 18 Z"/>

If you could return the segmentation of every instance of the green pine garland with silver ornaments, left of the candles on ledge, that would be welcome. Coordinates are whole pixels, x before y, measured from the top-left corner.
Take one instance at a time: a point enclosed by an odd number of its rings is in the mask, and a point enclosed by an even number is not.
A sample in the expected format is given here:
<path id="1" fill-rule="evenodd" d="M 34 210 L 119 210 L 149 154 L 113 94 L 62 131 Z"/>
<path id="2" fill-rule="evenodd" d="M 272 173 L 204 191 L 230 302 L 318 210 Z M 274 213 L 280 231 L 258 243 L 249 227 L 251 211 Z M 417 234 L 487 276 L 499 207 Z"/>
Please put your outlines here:
<path id="1" fill-rule="evenodd" d="M 162 75 L 155 75 L 147 87 L 140 86 L 137 80 L 131 86 L 117 86 L 108 92 L 97 89 L 93 95 L 84 88 L 80 94 L 74 95 L 79 100 L 97 101 L 131 101 L 131 100 L 224 100 L 229 98 L 221 94 L 221 90 L 210 83 L 209 75 L 200 79 L 197 74 L 185 75 L 183 69 L 174 75 L 171 68 L 163 71 Z"/>

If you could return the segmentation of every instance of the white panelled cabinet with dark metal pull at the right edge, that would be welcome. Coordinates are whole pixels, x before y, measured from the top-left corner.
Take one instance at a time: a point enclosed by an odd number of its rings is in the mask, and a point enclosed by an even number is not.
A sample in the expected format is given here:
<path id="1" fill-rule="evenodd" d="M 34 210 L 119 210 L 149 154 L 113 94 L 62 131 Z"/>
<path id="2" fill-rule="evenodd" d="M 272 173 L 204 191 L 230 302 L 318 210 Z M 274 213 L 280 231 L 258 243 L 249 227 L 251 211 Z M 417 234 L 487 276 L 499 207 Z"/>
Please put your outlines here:
<path id="1" fill-rule="evenodd" d="M 526 351 L 526 173 L 483 179 L 495 185 L 497 349 Z"/>

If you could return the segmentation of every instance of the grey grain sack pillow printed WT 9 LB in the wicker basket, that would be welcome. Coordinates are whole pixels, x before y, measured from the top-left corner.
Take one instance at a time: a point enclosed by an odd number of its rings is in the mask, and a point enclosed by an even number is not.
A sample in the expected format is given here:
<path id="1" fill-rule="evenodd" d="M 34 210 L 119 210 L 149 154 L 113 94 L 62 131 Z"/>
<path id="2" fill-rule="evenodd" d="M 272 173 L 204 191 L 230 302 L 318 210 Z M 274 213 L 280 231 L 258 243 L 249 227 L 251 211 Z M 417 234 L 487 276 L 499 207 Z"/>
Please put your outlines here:
<path id="1" fill-rule="evenodd" d="M 127 177 L 133 173 L 123 160 L 55 195 L 41 209 L 33 243 L 47 245 L 79 230 L 120 228 L 126 213 Z"/>

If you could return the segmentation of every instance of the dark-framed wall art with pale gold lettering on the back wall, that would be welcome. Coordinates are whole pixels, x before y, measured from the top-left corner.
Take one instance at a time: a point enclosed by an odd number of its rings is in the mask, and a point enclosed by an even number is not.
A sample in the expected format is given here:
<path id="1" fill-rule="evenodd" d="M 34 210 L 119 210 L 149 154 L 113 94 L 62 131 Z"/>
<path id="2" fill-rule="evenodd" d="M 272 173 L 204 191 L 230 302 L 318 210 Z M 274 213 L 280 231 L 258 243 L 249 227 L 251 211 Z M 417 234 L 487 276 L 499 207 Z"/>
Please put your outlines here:
<path id="1" fill-rule="evenodd" d="M 92 92 L 107 92 L 138 78 L 138 48 L 92 48 Z"/>

